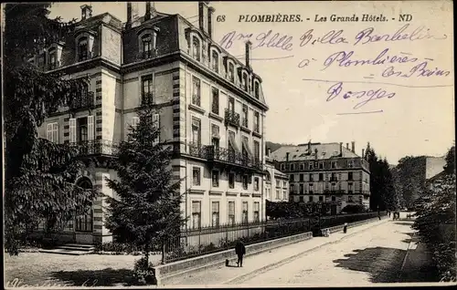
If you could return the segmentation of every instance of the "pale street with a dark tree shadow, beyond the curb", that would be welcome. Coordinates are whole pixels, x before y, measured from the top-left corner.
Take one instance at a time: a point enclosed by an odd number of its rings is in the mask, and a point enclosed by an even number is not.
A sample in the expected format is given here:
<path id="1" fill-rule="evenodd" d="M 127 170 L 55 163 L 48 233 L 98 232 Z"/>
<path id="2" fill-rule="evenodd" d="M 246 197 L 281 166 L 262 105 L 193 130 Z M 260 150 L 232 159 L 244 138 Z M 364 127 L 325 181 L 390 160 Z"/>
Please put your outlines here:
<path id="1" fill-rule="evenodd" d="M 398 282 L 413 233 L 410 224 L 382 223 L 230 284 L 347 286 Z"/>

